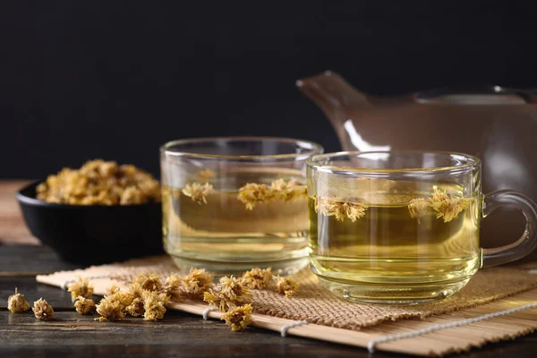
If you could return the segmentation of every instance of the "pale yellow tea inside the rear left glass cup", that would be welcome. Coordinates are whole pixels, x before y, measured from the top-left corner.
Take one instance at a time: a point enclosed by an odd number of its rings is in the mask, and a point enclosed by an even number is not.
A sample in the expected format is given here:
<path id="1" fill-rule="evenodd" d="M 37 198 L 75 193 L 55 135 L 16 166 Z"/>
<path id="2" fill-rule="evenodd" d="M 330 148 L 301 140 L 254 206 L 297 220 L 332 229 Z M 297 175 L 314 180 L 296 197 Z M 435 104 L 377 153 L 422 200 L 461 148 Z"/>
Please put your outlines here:
<path id="1" fill-rule="evenodd" d="M 212 178 L 209 183 L 214 191 L 205 197 L 206 203 L 185 196 L 182 188 L 164 186 L 166 251 L 181 268 L 208 268 L 217 274 L 269 266 L 290 274 L 303 268 L 308 263 L 307 196 L 257 202 L 253 209 L 237 199 L 246 183 L 269 186 L 277 179 L 290 180 L 300 174 L 261 170 Z"/>

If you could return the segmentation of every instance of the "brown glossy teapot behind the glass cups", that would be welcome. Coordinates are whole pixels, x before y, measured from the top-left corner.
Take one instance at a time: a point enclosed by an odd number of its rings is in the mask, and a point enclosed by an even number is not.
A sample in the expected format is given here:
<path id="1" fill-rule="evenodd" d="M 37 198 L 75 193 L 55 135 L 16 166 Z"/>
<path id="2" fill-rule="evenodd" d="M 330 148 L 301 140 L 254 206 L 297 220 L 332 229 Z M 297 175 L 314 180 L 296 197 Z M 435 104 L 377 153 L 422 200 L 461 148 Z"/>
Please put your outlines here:
<path id="1" fill-rule="evenodd" d="M 376 98 L 339 74 L 296 82 L 328 116 L 344 150 L 447 150 L 482 159 L 483 191 L 512 189 L 537 201 L 537 94 L 499 86 Z M 484 247 L 512 243 L 524 227 L 514 209 L 484 220 Z M 537 260 L 537 250 L 526 260 Z"/>

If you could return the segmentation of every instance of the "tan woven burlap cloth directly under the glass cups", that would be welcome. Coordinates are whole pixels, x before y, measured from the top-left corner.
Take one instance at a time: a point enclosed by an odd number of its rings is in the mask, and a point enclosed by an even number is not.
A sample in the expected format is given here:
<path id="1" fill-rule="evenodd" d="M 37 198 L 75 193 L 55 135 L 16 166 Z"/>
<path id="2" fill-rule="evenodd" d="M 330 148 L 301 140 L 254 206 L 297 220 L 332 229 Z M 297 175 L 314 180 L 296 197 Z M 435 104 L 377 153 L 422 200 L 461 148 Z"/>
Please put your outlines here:
<path id="1" fill-rule="evenodd" d="M 131 279 L 141 272 L 154 272 L 166 277 L 179 273 L 167 256 L 129 260 L 83 270 L 57 272 L 39 276 L 38 281 L 62 286 L 66 280 L 82 277 L 116 277 Z M 324 326 L 360 329 L 378 325 L 388 320 L 425 318 L 462 310 L 503 297 L 518 294 L 537 287 L 537 275 L 527 268 L 485 268 L 475 274 L 458 294 L 436 303 L 419 305 L 379 305 L 350 303 L 330 294 L 320 285 L 317 277 L 305 268 L 293 277 L 301 286 L 293 297 L 286 297 L 270 290 L 254 290 L 255 311 L 260 314 L 288 320 L 307 320 Z M 109 285 L 110 280 L 102 284 Z M 104 288 L 96 286 L 96 294 L 104 294 Z"/>

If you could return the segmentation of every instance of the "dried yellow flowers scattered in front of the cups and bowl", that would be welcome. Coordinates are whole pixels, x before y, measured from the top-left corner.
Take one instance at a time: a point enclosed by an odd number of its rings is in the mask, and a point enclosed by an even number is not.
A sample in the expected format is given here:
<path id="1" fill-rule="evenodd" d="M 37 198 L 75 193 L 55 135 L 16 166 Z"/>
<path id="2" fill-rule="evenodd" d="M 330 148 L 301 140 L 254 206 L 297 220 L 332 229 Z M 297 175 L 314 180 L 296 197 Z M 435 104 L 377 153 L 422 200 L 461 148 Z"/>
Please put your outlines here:
<path id="1" fill-rule="evenodd" d="M 172 274 L 164 281 L 157 274 L 142 273 L 132 279 L 126 291 L 117 286 L 109 287 L 97 304 L 90 298 L 93 287 L 87 278 L 78 277 L 68 291 L 76 311 L 81 314 L 97 311 L 100 317 L 95 320 L 98 321 L 122 320 L 127 314 L 143 316 L 144 320 L 161 320 L 171 298 L 203 300 L 223 311 L 221 320 L 237 331 L 251 323 L 252 289 L 273 288 L 286 296 L 292 296 L 298 290 L 298 285 L 290 278 L 273 276 L 271 268 L 252 268 L 242 277 L 221 277 L 217 285 L 213 285 L 212 280 L 211 273 L 198 268 L 191 268 L 184 277 Z M 30 310 L 30 304 L 17 288 L 8 298 L 8 309 L 13 313 Z M 43 298 L 34 302 L 32 310 L 38 320 L 54 319 L 54 309 Z"/>

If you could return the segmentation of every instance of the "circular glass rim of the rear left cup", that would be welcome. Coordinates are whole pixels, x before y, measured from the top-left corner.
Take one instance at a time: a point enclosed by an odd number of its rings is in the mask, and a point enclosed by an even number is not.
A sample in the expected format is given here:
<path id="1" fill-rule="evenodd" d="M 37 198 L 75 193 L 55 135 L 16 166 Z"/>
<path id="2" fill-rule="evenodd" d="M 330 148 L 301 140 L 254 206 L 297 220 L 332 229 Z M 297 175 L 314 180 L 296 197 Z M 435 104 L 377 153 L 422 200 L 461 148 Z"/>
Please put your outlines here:
<path id="1" fill-rule="evenodd" d="M 300 148 L 305 149 L 301 153 L 283 153 L 269 155 L 222 155 L 222 154 L 205 154 L 196 153 L 194 150 L 173 150 L 172 147 L 190 143 L 209 143 L 214 141 L 276 141 L 279 143 L 295 144 Z M 160 153 L 173 157 L 183 158 L 206 158 L 206 159 L 222 159 L 222 160 L 254 160 L 254 161 L 270 161 L 281 159 L 304 160 L 313 155 L 324 152 L 323 147 L 314 141 L 305 141 L 286 137 L 270 137 L 270 136 L 225 136 L 225 137 L 198 137 L 186 138 L 182 140 L 167 141 L 160 146 Z"/>

